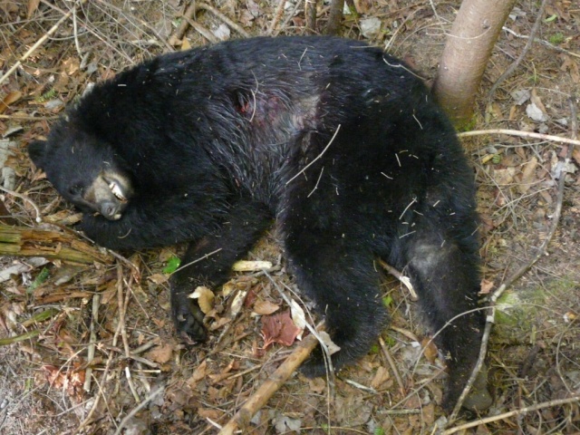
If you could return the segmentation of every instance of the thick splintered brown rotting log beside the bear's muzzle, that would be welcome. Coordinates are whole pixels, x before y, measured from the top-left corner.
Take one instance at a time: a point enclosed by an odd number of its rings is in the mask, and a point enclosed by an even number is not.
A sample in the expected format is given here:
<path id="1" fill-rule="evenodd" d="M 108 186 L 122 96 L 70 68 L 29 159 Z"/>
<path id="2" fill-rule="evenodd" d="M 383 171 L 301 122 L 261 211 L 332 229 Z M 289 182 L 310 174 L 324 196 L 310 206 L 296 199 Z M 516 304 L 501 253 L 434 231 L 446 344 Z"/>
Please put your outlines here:
<path id="1" fill-rule="evenodd" d="M 0 225 L 0 256 L 43 256 L 83 265 L 112 263 L 110 255 L 70 234 L 7 225 Z"/>

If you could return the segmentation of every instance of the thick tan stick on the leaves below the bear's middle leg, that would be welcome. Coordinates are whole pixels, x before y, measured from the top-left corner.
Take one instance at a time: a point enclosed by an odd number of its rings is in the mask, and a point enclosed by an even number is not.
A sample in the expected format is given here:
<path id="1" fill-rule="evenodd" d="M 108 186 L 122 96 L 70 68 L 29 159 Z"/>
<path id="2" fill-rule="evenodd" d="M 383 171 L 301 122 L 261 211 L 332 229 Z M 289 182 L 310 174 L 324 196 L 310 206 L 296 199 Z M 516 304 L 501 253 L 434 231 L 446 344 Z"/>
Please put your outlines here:
<path id="1" fill-rule="evenodd" d="M 237 428 L 246 428 L 252 417 L 258 410 L 260 410 L 266 402 L 278 391 L 298 366 L 304 362 L 306 357 L 312 353 L 314 347 L 318 344 L 318 340 L 313 334 L 308 335 L 304 340 L 296 346 L 296 349 L 291 353 L 285 362 L 276 369 L 270 378 L 264 382 L 258 390 L 250 396 L 250 398 L 242 405 L 236 415 L 227 422 L 220 431 L 219 435 L 232 435 Z"/>

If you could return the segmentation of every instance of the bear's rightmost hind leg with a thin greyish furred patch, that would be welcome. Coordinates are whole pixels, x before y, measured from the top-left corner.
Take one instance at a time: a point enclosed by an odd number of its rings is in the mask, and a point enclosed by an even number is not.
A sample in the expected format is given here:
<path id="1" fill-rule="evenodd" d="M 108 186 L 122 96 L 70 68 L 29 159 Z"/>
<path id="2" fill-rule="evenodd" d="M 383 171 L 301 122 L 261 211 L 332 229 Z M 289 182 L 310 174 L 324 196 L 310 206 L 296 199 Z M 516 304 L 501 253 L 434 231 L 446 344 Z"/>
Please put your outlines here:
<path id="1" fill-rule="evenodd" d="M 445 240 L 435 232 L 419 232 L 406 249 L 407 273 L 419 295 L 422 312 L 437 333 L 436 342 L 447 353 L 446 410 L 459 399 L 478 360 L 485 323 L 484 312 L 478 306 L 479 261 L 474 248 L 477 245 L 472 243 L 475 237 L 461 243 Z M 490 400 L 488 394 L 483 396 Z M 485 409 L 489 404 L 479 403 L 478 408 Z"/>

